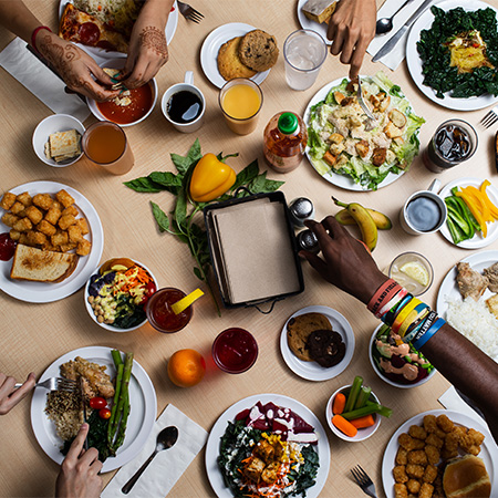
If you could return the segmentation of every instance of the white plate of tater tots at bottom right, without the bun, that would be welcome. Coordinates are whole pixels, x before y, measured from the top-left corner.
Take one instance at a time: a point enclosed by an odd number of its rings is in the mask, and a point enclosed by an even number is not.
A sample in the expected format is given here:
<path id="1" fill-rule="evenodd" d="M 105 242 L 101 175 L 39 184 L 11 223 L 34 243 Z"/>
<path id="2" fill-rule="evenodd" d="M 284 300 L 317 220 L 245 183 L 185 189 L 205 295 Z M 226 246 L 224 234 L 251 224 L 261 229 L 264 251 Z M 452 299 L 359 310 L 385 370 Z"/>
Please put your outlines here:
<path id="1" fill-rule="evenodd" d="M 483 459 L 491 496 L 498 496 L 498 447 L 481 418 L 449 409 L 415 415 L 401 425 L 387 444 L 382 461 L 384 492 L 387 498 L 444 498 L 444 466 L 439 464 L 465 455 Z"/>

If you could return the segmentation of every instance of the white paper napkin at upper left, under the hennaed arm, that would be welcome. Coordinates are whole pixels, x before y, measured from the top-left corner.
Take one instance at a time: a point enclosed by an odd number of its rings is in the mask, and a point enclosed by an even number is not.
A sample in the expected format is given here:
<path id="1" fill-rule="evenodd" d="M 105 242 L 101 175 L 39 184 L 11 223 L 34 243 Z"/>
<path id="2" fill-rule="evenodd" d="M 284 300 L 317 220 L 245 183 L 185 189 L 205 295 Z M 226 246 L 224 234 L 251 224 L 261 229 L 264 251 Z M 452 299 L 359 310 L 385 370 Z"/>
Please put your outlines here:
<path id="1" fill-rule="evenodd" d="M 76 95 L 66 94 L 65 83 L 25 46 L 25 41 L 15 38 L 0 53 L 0 65 L 54 113 L 86 120 L 90 115 L 86 104 Z"/>

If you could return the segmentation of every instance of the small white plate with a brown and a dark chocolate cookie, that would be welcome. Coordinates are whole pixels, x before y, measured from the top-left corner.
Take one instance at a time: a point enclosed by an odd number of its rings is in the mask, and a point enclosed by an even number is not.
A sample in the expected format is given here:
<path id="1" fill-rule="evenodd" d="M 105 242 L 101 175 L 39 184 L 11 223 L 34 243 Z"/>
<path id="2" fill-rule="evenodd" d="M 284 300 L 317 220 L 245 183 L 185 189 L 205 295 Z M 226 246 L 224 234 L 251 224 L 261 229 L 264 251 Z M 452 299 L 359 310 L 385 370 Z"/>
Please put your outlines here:
<path id="1" fill-rule="evenodd" d="M 283 325 L 280 351 L 289 369 L 300 377 L 328 381 L 342 373 L 353 357 L 353 329 L 332 308 L 307 307 Z"/>

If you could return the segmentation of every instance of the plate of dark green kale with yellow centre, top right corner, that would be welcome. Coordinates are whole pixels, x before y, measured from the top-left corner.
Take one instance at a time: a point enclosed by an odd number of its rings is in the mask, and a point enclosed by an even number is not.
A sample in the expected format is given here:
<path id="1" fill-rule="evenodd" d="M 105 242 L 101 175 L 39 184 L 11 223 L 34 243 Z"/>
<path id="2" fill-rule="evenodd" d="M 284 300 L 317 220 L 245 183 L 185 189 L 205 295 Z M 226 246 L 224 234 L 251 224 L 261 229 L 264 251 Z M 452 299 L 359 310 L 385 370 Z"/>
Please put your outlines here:
<path id="1" fill-rule="evenodd" d="M 447 0 L 427 9 L 406 42 L 417 87 L 436 104 L 475 111 L 498 101 L 497 10 L 479 0 Z"/>

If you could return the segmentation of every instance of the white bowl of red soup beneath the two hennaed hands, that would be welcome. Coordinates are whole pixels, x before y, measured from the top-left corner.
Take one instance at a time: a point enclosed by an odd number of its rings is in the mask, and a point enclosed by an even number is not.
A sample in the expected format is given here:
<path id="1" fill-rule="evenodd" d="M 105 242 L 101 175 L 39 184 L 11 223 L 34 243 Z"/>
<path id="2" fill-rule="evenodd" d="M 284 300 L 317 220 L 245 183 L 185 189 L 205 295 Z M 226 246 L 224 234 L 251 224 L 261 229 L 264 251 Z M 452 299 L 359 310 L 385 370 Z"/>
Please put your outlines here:
<path id="1" fill-rule="evenodd" d="M 125 59 L 106 61 L 102 68 L 121 70 Z M 142 123 L 152 112 L 157 101 L 157 82 L 153 77 L 138 89 L 123 91 L 116 98 L 108 102 L 96 102 L 86 98 L 92 114 L 100 121 L 112 121 L 120 126 L 132 126 Z"/>

